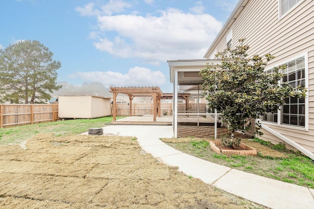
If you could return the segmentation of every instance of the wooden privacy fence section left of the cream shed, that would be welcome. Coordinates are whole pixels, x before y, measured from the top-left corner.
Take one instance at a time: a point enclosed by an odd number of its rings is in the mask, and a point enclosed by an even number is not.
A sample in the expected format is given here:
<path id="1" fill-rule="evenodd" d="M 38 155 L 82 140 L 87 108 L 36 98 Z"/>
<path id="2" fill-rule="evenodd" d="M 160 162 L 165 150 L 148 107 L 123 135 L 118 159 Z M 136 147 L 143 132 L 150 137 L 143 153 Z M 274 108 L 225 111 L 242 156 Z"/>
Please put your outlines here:
<path id="1" fill-rule="evenodd" d="M 0 128 L 57 119 L 58 104 L 0 104 Z"/>

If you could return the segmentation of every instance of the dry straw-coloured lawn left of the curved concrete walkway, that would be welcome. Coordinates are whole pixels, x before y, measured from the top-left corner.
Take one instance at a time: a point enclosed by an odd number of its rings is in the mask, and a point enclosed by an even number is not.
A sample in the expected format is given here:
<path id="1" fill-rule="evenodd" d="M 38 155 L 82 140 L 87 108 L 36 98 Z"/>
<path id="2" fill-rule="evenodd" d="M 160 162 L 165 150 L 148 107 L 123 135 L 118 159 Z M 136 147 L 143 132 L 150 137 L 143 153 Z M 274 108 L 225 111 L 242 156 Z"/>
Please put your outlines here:
<path id="1" fill-rule="evenodd" d="M 159 163 L 130 137 L 37 135 L 0 146 L 0 208 L 264 208 Z"/>

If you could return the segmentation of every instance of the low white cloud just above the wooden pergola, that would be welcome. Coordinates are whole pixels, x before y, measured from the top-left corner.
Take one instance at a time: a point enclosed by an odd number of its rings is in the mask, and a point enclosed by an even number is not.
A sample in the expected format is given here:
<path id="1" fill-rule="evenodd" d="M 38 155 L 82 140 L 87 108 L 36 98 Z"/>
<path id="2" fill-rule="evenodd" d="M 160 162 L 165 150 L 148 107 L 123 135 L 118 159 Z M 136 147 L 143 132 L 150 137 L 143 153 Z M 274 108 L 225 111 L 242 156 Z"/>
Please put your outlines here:
<path id="1" fill-rule="evenodd" d="M 134 67 L 122 74 L 113 71 L 75 72 L 68 76 L 71 79 L 81 79 L 85 82 L 99 82 L 105 87 L 109 86 L 160 86 L 166 83 L 165 75 L 157 70 Z"/>

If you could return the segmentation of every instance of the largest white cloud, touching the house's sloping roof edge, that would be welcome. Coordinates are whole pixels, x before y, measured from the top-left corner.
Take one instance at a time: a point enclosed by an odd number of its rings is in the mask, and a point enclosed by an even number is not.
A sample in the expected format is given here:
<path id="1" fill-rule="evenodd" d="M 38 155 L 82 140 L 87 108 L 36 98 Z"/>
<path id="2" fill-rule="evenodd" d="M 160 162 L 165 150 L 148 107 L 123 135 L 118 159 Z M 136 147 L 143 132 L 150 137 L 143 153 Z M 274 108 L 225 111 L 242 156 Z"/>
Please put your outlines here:
<path id="1" fill-rule="evenodd" d="M 94 46 L 118 57 L 142 58 L 158 64 L 170 59 L 202 58 L 222 26 L 208 14 L 168 8 L 160 16 L 98 16 L 100 32 Z M 110 37 L 110 32 L 115 34 Z"/>

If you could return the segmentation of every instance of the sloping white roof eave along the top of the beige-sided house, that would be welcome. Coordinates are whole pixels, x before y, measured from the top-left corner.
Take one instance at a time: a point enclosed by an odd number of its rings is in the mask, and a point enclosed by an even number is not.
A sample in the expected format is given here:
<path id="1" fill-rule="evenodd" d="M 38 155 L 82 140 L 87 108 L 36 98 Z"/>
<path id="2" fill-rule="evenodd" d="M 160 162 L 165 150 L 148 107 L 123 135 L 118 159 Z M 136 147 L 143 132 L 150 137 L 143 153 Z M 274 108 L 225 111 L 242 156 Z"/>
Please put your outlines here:
<path id="1" fill-rule="evenodd" d="M 244 9 L 245 5 L 249 2 L 249 0 L 239 0 L 239 2 L 236 4 L 234 11 L 229 16 L 227 22 L 222 26 L 221 30 L 219 31 L 218 35 L 212 42 L 212 44 L 209 46 L 209 49 L 204 55 L 204 58 L 208 58 L 215 50 L 215 47 L 219 43 L 220 39 L 225 37 L 225 34 L 229 31 L 230 26 L 235 22 L 238 15 L 241 13 L 241 11 Z"/>

